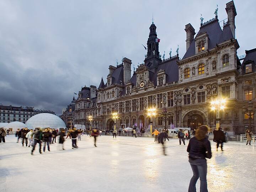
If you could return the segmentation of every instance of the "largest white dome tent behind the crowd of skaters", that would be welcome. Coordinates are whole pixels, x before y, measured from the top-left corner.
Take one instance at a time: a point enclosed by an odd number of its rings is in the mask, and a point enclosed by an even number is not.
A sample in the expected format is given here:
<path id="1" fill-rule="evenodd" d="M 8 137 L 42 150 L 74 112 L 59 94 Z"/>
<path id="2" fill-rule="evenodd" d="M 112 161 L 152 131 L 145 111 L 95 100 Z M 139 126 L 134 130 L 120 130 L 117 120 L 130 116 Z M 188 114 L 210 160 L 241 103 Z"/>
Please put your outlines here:
<path id="1" fill-rule="evenodd" d="M 64 121 L 51 113 L 36 114 L 27 120 L 26 125 L 33 129 L 46 127 L 52 129 L 66 128 Z"/>

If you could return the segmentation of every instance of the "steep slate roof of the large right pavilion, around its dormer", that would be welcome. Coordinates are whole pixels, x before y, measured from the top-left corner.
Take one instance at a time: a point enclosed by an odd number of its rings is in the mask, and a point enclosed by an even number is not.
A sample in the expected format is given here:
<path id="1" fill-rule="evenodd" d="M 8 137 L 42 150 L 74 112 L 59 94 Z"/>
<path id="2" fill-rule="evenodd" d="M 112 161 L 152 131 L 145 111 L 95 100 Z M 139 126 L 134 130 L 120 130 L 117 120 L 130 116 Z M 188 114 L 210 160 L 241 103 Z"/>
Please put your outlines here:
<path id="1" fill-rule="evenodd" d="M 197 36 L 201 35 L 202 33 L 206 32 L 208 34 L 208 49 L 211 50 L 214 47 L 216 47 L 216 44 L 222 43 L 226 40 L 233 39 L 233 35 L 230 30 L 230 26 L 226 25 L 223 27 L 223 30 L 221 29 L 219 25 L 219 20 L 216 19 L 212 22 L 210 22 L 207 25 L 203 25 L 200 27 L 200 30 L 198 31 Z M 195 37 L 195 38 L 196 38 Z M 193 55 L 196 54 L 196 46 L 195 46 L 195 41 L 193 40 L 192 43 L 190 44 L 190 47 L 188 48 L 187 52 L 183 56 L 182 59 L 189 58 Z"/>

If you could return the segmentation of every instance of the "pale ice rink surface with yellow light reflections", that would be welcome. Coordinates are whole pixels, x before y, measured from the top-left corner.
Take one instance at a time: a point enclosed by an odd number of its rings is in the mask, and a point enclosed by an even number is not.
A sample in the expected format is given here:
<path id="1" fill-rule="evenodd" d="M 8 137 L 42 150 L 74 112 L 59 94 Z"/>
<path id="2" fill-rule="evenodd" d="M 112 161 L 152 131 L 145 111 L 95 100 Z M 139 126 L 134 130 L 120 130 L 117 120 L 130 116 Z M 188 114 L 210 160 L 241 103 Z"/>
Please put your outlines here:
<path id="1" fill-rule="evenodd" d="M 167 156 L 161 144 L 152 138 L 82 136 L 78 149 L 71 150 L 71 139 L 65 149 L 57 143 L 50 152 L 39 154 L 36 146 L 22 147 L 16 138 L 6 137 L 0 143 L 0 191 L 110 191 L 110 192 L 186 192 L 192 170 L 186 146 L 177 139 L 166 142 Z M 208 163 L 209 192 L 256 191 L 256 144 L 229 142 L 224 151 L 216 151 Z M 47 150 L 46 150 L 47 151 Z M 197 191 L 199 191 L 199 180 Z"/>

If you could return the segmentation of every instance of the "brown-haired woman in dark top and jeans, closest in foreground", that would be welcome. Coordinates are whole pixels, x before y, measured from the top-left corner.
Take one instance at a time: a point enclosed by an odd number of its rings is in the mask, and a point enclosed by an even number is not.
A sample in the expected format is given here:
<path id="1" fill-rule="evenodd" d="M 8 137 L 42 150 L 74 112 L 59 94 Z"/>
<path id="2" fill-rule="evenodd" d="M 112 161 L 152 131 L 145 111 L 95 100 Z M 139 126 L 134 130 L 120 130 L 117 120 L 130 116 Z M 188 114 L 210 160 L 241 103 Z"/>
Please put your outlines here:
<path id="1" fill-rule="evenodd" d="M 196 182 L 200 177 L 200 192 L 208 192 L 207 190 L 207 162 L 206 158 L 212 158 L 210 142 L 206 137 L 208 128 L 200 126 L 195 133 L 195 137 L 191 138 L 187 152 L 188 162 L 190 162 L 193 176 L 190 180 L 188 192 L 196 192 Z M 206 153 L 207 152 L 207 153 Z"/>

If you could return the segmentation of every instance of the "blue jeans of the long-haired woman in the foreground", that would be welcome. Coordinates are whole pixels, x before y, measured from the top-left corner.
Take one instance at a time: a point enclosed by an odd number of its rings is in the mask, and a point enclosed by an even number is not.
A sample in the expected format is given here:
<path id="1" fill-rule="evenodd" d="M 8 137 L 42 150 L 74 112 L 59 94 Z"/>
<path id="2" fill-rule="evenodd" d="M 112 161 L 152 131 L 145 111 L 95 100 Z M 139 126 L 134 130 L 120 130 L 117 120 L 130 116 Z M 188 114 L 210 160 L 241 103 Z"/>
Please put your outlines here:
<path id="1" fill-rule="evenodd" d="M 188 192 L 196 192 L 196 182 L 200 177 L 200 192 L 208 192 L 207 190 L 207 164 L 206 159 L 194 159 L 189 158 L 190 166 L 193 171 L 193 176 L 190 180 Z"/>

